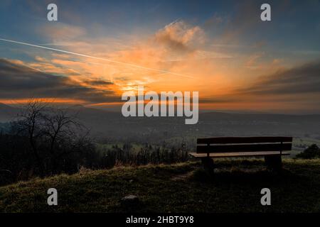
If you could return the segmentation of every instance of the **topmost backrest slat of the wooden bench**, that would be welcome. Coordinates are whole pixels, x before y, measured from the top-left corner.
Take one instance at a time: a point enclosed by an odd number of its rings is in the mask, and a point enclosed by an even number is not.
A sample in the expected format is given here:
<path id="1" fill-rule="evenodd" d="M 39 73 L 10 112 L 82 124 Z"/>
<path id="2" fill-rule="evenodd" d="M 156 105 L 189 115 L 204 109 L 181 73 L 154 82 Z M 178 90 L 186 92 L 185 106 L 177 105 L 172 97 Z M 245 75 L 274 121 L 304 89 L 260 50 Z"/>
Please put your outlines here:
<path id="1" fill-rule="evenodd" d="M 198 138 L 198 144 L 208 143 L 279 143 L 292 142 L 292 137 L 288 136 L 257 136 L 257 137 L 213 137 L 213 138 Z"/>

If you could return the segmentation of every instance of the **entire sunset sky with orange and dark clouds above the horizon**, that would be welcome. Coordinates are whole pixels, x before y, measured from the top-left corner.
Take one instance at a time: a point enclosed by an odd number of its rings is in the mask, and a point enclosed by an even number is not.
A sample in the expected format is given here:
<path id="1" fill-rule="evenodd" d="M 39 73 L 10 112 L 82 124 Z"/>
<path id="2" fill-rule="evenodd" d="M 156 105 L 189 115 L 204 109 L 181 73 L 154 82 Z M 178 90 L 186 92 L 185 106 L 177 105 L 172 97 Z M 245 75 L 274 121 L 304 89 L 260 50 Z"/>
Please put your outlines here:
<path id="1" fill-rule="evenodd" d="M 0 40 L 4 104 L 111 108 L 144 86 L 199 92 L 200 109 L 320 114 L 319 0 L 1 0 L 0 39 L 44 47 Z"/>

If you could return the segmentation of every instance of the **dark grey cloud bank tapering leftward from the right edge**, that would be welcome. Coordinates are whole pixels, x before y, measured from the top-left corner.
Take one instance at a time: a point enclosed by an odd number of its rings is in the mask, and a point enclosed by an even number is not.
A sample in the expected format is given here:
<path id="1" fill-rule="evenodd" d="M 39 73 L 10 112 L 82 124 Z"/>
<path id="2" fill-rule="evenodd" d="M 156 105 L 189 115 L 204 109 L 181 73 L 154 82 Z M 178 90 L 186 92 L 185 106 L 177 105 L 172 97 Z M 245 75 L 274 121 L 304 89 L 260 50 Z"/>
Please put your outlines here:
<path id="1" fill-rule="evenodd" d="M 320 62 L 311 62 L 261 77 L 251 87 L 238 89 L 249 94 L 320 93 Z"/>

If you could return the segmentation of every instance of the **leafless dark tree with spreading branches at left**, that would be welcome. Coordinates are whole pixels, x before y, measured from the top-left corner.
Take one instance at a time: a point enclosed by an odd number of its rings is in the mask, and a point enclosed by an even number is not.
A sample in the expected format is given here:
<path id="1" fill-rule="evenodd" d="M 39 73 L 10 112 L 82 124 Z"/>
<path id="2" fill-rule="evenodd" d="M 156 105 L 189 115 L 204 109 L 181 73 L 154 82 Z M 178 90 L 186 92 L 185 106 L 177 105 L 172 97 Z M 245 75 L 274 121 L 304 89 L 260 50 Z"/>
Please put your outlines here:
<path id="1" fill-rule="evenodd" d="M 88 131 L 76 114 L 38 99 L 31 99 L 23 107 L 16 128 L 28 137 L 40 175 L 58 172 L 58 163 L 66 155 L 81 152 L 81 145 L 90 143 Z"/>

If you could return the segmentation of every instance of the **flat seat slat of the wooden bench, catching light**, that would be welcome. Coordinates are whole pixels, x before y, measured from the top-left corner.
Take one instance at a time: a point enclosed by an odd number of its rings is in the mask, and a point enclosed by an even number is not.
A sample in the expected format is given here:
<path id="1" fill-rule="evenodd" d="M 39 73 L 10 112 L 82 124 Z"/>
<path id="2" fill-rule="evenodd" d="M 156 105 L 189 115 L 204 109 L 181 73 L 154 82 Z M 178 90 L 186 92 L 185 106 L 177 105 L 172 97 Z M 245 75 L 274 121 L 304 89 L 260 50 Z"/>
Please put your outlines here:
<path id="1" fill-rule="evenodd" d="M 207 154 L 190 153 L 193 157 L 208 157 Z M 258 152 L 242 152 L 242 153 L 210 153 L 209 157 L 259 157 L 269 155 L 280 155 L 279 151 L 258 151 Z M 290 153 L 283 152 L 282 155 L 290 155 Z"/>

